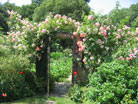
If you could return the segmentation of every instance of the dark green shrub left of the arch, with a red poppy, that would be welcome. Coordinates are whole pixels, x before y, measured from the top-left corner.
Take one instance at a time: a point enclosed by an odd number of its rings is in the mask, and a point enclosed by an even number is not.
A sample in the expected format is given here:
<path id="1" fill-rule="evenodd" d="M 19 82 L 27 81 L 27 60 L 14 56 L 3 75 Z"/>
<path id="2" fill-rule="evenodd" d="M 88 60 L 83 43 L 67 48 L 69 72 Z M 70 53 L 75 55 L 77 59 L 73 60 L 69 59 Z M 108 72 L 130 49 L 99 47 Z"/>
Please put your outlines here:
<path id="1" fill-rule="evenodd" d="M 0 102 L 45 93 L 46 83 L 31 71 L 32 64 L 27 59 L 28 56 L 1 52 L 3 56 L 0 57 Z M 54 90 L 54 86 L 55 80 L 51 76 L 50 91 Z M 7 97 L 3 97 L 3 93 L 6 93 Z"/>

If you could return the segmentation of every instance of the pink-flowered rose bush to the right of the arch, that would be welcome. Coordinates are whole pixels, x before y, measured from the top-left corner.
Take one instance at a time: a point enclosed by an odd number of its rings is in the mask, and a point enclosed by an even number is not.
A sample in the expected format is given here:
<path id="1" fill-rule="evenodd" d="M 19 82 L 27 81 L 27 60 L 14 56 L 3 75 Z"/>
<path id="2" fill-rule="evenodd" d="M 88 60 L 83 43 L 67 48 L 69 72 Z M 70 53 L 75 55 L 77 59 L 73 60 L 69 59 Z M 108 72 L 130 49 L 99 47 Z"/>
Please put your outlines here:
<path id="1" fill-rule="evenodd" d="M 93 19 L 90 19 L 90 16 Z M 93 72 L 102 62 L 113 60 L 112 55 L 120 46 L 136 43 L 138 34 L 137 29 L 132 31 L 131 27 L 126 25 L 123 28 L 117 28 L 108 18 L 102 19 L 94 14 L 90 16 L 84 17 L 78 32 L 80 36 L 82 33 L 88 34 L 81 44 L 85 46 L 84 61 L 87 60 L 85 65 L 90 72 Z"/>

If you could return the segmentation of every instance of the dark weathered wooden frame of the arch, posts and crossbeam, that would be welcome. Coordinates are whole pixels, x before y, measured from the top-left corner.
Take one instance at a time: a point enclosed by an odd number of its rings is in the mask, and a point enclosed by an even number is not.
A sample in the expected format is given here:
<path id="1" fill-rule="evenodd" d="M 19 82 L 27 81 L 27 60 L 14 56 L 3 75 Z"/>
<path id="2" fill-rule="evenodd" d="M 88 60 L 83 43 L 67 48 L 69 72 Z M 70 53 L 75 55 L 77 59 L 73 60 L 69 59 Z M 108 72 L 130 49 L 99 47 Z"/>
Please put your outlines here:
<path id="1" fill-rule="evenodd" d="M 55 35 L 57 38 L 69 38 L 73 39 L 73 65 L 72 65 L 72 86 L 77 83 L 81 83 L 81 71 L 83 70 L 84 63 L 82 62 L 83 55 L 82 52 L 78 51 L 77 41 L 78 39 L 75 38 L 72 34 L 68 33 L 58 33 Z M 45 86 L 46 86 L 46 93 L 49 95 L 49 82 L 50 82 L 50 40 L 51 37 L 47 36 L 45 40 L 46 49 L 44 50 L 44 53 L 42 54 L 41 60 L 36 60 L 36 73 L 38 76 L 42 77 L 45 80 Z M 80 59 L 80 61 L 76 61 L 76 59 Z M 74 73 L 77 73 L 77 75 L 74 75 Z M 77 78 L 76 78 L 77 76 Z"/>

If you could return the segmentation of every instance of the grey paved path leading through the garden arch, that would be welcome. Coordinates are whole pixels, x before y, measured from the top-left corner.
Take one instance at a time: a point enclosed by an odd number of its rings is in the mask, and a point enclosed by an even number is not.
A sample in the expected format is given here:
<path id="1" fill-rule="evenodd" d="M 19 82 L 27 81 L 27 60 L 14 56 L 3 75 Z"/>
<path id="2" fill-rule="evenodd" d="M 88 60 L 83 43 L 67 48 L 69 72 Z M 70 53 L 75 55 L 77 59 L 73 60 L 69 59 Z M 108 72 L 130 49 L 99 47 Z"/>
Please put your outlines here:
<path id="1" fill-rule="evenodd" d="M 67 92 L 71 86 L 72 75 L 69 76 L 67 82 L 57 82 L 55 90 L 50 93 L 50 97 L 67 97 Z M 55 101 L 46 101 L 47 104 L 56 104 Z"/>

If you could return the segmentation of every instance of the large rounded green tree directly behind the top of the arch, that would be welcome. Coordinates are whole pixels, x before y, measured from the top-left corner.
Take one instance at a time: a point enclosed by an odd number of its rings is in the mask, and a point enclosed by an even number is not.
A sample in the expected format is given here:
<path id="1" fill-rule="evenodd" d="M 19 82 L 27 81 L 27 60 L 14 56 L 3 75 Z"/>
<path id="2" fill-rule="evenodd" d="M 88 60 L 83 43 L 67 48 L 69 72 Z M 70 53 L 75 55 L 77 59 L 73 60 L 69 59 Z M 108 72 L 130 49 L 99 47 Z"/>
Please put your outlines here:
<path id="1" fill-rule="evenodd" d="M 44 0 L 42 4 L 35 9 L 33 20 L 36 22 L 44 20 L 49 12 L 67 15 L 81 21 L 82 14 L 85 13 L 88 15 L 90 7 L 84 0 Z"/>

